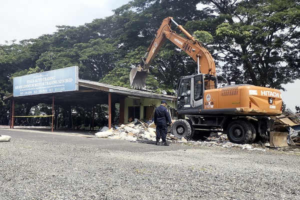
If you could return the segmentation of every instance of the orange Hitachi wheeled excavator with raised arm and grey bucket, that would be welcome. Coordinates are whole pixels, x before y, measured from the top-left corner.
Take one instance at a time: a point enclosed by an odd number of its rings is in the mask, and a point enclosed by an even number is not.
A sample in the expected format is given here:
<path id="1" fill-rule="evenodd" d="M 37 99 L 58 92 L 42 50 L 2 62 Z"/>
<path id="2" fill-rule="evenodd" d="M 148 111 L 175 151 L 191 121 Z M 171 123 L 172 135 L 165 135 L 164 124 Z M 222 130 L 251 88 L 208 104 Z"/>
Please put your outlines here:
<path id="1" fill-rule="evenodd" d="M 171 29 L 172 22 L 186 37 Z M 270 116 L 282 112 L 282 97 L 277 89 L 250 84 L 231 84 L 217 88 L 215 63 L 211 54 L 172 17 L 162 20 L 141 63 L 130 71 L 130 84 L 143 88 L 149 66 L 163 42 L 168 39 L 196 63 L 197 74 L 181 77 L 177 83 L 178 119 L 170 133 L 178 138 L 207 138 L 211 132 L 227 134 L 233 143 L 268 140 L 274 129 Z"/>

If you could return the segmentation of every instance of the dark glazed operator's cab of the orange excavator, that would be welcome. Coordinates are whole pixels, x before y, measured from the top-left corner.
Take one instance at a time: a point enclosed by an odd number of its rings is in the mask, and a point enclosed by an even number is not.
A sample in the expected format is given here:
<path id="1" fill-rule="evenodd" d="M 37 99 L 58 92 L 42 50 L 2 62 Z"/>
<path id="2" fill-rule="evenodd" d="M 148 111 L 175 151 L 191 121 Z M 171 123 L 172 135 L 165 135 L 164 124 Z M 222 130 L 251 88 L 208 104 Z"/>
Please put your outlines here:
<path id="1" fill-rule="evenodd" d="M 203 108 L 203 94 L 206 89 L 216 88 L 216 77 L 208 74 L 189 75 L 181 78 L 177 88 L 177 110 Z"/>

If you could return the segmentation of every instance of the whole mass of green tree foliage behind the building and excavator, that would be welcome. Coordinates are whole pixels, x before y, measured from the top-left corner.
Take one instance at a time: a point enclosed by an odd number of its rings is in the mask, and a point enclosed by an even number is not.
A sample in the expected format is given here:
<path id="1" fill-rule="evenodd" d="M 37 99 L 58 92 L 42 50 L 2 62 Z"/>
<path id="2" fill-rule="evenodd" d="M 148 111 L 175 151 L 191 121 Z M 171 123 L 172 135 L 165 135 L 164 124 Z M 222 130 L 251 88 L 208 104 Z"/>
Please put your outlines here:
<path id="1" fill-rule="evenodd" d="M 14 76 L 73 65 L 79 66 L 81 79 L 130 87 L 131 67 L 141 61 L 167 16 L 211 52 L 222 81 L 284 89 L 282 84 L 300 75 L 298 1 L 131 0 L 104 19 L 0 45 L 1 93 L 12 92 Z M 174 24 L 172 29 L 181 34 Z M 173 94 L 173 81 L 195 73 L 196 63 L 166 40 L 149 71 L 146 89 Z M 7 102 L 0 106 L 9 107 Z"/>

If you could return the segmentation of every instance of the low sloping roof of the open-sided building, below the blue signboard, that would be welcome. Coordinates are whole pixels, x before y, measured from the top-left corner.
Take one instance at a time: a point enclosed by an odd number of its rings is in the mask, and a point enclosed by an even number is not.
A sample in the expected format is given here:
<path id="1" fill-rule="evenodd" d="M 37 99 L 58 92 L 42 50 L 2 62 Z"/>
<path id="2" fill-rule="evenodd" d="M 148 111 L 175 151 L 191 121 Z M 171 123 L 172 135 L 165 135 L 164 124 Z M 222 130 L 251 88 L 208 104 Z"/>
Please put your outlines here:
<path id="1" fill-rule="evenodd" d="M 120 86 L 113 86 L 100 82 L 79 79 L 78 90 L 76 91 L 63 91 L 55 93 L 45 93 L 36 95 L 13 96 L 9 94 L 4 96 L 4 100 L 14 99 L 17 102 L 36 102 L 36 103 L 52 103 L 54 96 L 54 103 L 56 104 L 70 104 L 70 105 L 96 105 L 107 104 L 108 93 L 111 93 L 111 101 L 119 102 L 120 98 L 128 97 L 146 97 L 164 100 L 174 100 L 175 96 L 157 94 L 145 90 L 128 89 Z"/>

